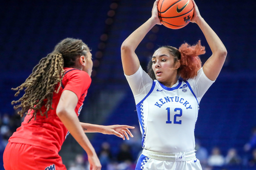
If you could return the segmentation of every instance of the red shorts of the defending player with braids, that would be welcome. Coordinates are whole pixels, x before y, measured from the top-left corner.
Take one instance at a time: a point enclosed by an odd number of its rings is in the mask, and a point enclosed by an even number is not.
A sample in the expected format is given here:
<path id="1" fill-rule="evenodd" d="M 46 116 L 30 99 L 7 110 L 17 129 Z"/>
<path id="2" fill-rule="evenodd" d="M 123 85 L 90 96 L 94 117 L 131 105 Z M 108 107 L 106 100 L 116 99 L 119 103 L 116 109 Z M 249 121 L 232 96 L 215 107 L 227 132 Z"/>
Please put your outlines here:
<path id="1" fill-rule="evenodd" d="M 66 170 L 61 157 L 50 150 L 18 143 L 8 143 L 3 153 L 5 170 Z"/>

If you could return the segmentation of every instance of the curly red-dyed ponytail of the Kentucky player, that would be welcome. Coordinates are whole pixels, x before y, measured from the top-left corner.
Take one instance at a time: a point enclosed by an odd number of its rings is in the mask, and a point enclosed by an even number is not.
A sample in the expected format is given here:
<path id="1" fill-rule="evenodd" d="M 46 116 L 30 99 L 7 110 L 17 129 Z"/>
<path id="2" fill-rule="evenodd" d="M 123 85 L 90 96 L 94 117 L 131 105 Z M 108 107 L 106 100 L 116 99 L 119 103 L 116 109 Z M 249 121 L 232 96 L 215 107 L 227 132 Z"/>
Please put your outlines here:
<path id="1" fill-rule="evenodd" d="M 201 60 L 198 56 L 205 53 L 205 47 L 201 45 L 199 40 L 195 45 L 183 43 L 178 51 L 180 52 L 180 77 L 184 80 L 193 78 L 201 68 Z"/>

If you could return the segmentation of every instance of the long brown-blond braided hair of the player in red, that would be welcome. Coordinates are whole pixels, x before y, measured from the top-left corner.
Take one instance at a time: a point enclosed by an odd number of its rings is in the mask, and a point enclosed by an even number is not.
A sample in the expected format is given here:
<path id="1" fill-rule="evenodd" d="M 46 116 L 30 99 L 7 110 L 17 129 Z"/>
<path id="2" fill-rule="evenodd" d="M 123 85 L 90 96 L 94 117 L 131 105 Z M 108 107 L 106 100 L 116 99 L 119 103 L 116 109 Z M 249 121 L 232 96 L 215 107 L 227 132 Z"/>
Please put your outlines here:
<path id="1" fill-rule="evenodd" d="M 51 53 L 39 61 L 24 83 L 16 88 L 11 88 L 11 90 L 17 91 L 15 96 L 23 89 L 25 92 L 17 101 L 11 102 L 12 105 L 20 102 L 13 107 L 14 109 L 21 108 L 18 111 L 20 117 L 31 109 L 34 111 L 34 119 L 36 119 L 37 112 L 47 118 L 47 112 L 52 109 L 53 92 L 58 93 L 60 89 L 58 86 L 55 90 L 55 86 L 62 81 L 63 67 L 76 68 L 76 59 L 81 55 L 86 57 L 87 51 L 89 48 L 82 40 L 65 38 L 55 46 Z M 43 106 L 46 108 L 44 113 L 41 110 Z"/>

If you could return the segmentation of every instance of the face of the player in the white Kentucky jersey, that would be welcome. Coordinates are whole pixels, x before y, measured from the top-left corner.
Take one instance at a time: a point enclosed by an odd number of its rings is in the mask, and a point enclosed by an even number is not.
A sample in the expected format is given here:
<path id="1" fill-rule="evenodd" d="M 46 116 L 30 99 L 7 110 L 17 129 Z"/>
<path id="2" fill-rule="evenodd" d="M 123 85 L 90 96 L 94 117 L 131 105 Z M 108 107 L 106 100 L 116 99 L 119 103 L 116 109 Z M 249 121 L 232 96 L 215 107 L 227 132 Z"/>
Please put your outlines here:
<path id="1" fill-rule="evenodd" d="M 177 62 L 176 62 L 177 63 Z M 177 76 L 177 64 L 167 48 L 157 49 L 152 56 L 152 69 L 156 80 L 168 83 Z"/>

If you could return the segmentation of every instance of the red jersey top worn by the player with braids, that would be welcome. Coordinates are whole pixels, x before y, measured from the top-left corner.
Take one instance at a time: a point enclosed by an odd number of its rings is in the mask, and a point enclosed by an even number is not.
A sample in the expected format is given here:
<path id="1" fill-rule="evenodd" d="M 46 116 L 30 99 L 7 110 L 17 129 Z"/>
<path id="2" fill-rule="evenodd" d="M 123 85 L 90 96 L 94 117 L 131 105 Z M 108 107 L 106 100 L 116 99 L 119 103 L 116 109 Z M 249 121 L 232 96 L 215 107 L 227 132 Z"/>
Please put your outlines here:
<path id="1" fill-rule="evenodd" d="M 85 71 L 74 68 L 64 68 L 64 70 L 65 73 L 60 84 L 60 90 L 57 94 L 53 92 L 51 105 L 53 110 L 50 109 L 48 111 L 47 118 L 37 112 L 36 120 L 32 118 L 28 123 L 33 113 L 33 110 L 29 110 L 28 113 L 30 115 L 26 115 L 21 126 L 9 138 L 9 142 L 34 145 L 59 152 L 67 135 L 67 129 L 56 115 L 60 96 L 64 90 L 70 90 L 76 94 L 78 102 L 75 107 L 75 113 L 78 116 L 91 83 L 91 78 Z M 58 86 L 55 87 L 55 90 L 57 90 Z M 44 113 L 46 108 L 43 106 L 41 110 Z"/>

